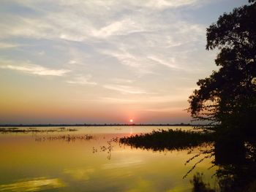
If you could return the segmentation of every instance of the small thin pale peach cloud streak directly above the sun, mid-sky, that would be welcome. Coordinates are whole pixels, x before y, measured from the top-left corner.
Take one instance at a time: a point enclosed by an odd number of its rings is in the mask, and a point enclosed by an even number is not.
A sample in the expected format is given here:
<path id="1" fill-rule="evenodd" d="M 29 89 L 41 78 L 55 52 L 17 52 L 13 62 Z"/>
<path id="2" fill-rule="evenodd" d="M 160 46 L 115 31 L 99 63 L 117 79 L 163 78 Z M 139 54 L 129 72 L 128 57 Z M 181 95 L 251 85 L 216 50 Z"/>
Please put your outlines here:
<path id="1" fill-rule="evenodd" d="M 127 85 L 103 85 L 103 88 L 107 88 L 113 91 L 118 91 L 121 93 L 129 93 L 129 94 L 146 93 L 146 91 L 143 91 L 140 88 L 133 88 L 132 86 L 127 86 Z"/>

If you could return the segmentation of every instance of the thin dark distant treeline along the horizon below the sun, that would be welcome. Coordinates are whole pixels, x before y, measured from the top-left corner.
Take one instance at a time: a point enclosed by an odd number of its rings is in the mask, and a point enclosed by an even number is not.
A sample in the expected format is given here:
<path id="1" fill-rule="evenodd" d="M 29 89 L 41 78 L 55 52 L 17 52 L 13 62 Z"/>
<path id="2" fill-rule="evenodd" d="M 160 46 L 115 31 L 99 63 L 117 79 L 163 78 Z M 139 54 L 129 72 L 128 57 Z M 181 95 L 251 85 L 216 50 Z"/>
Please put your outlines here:
<path id="1" fill-rule="evenodd" d="M 177 124 L 118 124 L 118 123 L 104 123 L 104 124 L 0 124 L 1 127 L 52 127 L 52 126 L 202 126 L 202 125 L 195 125 L 190 123 L 177 123 Z"/>

